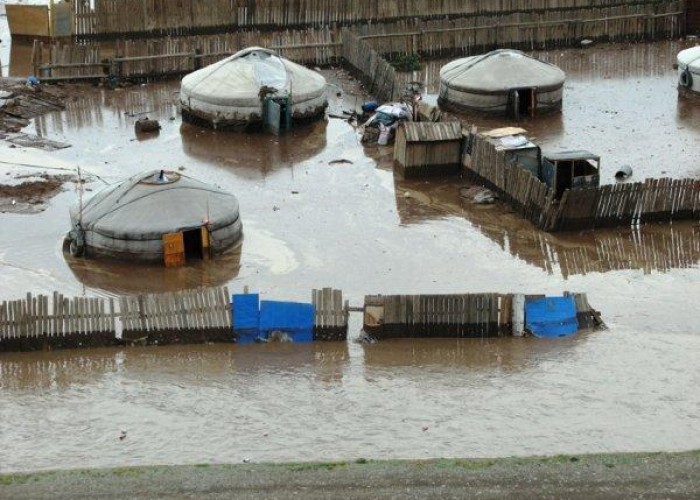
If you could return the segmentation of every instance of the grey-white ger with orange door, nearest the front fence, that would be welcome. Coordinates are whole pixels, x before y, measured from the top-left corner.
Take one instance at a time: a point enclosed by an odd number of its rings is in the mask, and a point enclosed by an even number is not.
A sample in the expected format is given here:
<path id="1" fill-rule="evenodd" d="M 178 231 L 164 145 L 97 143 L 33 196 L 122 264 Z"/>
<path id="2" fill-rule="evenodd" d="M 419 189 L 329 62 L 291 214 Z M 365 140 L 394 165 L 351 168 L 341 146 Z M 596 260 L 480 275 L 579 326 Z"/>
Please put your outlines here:
<path id="1" fill-rule="evenodd" d="M 233 249 L 243 229 L 238 200 L 180 173 L 153 170 L 108 186 L 70 210 L 71 254 L 168 267 Z"/>

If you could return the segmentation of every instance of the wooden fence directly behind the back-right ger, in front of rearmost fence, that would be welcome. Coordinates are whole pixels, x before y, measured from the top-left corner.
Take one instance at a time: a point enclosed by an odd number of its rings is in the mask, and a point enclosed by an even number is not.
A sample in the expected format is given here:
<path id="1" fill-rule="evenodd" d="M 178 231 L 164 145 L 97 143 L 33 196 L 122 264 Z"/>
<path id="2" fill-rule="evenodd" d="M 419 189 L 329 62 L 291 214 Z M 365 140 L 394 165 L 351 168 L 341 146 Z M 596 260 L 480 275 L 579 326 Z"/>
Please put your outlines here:
<path id="1" fill-rule="evenodd" d="M 382 54 L 424 57 L 473 55 L 494 48 L 542 50 L 570 47 L 583 39 L 655 40 L 683 30 L 680 2 L 604 8 L 524 9 L 448 19 L 407 19 L 357 24 L 353 32 Z"/>

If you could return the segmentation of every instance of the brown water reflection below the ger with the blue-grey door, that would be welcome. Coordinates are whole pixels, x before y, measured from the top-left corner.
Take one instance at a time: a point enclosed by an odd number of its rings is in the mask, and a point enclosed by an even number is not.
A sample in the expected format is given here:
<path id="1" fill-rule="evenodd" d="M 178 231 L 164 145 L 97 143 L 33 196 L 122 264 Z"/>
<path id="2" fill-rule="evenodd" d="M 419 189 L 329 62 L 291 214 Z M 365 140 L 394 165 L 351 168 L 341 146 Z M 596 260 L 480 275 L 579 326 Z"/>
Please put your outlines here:
<path id="1" fill-rule="evenodd" d="M 185 153 L 197 160 L 232 168 L 237 175 L 257 179 L 287 170 L 326 148 L 326 122 L 301 125 L 275 136 L 210 130 L 183 123 Z"/>

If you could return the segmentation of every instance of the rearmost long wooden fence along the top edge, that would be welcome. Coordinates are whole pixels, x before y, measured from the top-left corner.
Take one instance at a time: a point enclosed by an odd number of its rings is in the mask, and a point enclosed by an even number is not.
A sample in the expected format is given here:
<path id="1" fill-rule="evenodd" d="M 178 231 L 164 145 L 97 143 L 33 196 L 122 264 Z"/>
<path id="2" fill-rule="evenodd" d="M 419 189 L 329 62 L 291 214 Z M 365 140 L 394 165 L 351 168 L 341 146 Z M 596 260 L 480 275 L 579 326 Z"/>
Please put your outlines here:
<path id="1" fill-rule="evenodd" d="M 668 0 L 95 0 L 94 8 L 90 2 L 72 0 L 72 5 L 75 33 L 81 39 L 183 36 L 246 28 L 300 30 L 315 26 L 384 24 L 414 18 L 426 22 L 474 18 L 478 19 L 475 25 L 489 25 L 495 24 L 499 17 L 519 13 L 534 16 L 533 21 L 555 21 L 546 17 L 550 12 L 560 16 L 575 12 L 573 17 L 583 21 L 600 17 L 602 13 L 609 18 L 608 29 L 624 31 L 634 28 L 630 24 L 638 21 L 620 19 L 621 15 L 658 16 L 685 8 L 681 1 Z M 493 21 L 484 22 L 484 18 Z M 643 27 L 648 29 L 646 25 Z M 558 30 L 563 33 L 571 31 L 571 27 Z"/>

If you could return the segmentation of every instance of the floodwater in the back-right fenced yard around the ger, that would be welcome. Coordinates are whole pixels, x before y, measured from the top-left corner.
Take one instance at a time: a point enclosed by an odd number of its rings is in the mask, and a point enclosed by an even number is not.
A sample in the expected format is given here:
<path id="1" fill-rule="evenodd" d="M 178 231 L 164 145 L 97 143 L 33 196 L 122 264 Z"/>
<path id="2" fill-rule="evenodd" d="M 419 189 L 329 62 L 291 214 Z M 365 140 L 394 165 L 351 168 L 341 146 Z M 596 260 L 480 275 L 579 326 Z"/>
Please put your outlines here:
<path id="1" fill-rule="evenodd" d="M 561 114 L 525 119 L 543 151 L 586 149 L 601 156 L 601 182 L 614 182 L 616 170 L 630 165 L 634 177 L 700 177 L 698 102 L 679 99 L 673 69 L 679 51 L 693 44 L 598 45 L 589 49 L 533 52 L 566 73 Z M 428 100 L 437 100 L 439 71 L 433 61 L 414 75 L 426 82 Z M 503 122 L 460 115 L 482 127 Z"/>

